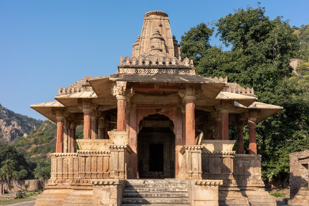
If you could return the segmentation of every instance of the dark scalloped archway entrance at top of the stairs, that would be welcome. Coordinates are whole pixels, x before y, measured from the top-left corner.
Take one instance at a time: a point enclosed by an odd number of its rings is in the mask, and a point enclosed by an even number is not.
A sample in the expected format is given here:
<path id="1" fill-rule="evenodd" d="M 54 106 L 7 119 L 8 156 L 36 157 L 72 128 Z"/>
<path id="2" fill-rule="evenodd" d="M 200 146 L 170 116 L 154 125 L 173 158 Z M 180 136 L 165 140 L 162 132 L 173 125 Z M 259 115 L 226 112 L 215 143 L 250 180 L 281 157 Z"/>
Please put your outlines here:
<path id="1" fill-rule="evenodd" d="M 175 178 L 175 134 L 173 122 L 154 114 L 140 121 L 138 133 L 138 177 Z"/>

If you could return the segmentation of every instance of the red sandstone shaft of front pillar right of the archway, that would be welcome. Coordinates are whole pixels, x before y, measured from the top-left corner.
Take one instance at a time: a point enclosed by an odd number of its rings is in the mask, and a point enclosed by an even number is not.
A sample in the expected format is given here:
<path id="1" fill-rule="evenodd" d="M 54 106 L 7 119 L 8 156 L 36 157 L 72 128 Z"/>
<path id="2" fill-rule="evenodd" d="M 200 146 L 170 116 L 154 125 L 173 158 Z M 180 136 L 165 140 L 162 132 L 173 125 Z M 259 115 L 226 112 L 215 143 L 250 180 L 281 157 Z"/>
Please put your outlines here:
<path id="1" fill-rule="evenodd" d="M 196 96 L 185 96 L 186 101 L 186 145 L 195 145 L 195 99 Z"/>

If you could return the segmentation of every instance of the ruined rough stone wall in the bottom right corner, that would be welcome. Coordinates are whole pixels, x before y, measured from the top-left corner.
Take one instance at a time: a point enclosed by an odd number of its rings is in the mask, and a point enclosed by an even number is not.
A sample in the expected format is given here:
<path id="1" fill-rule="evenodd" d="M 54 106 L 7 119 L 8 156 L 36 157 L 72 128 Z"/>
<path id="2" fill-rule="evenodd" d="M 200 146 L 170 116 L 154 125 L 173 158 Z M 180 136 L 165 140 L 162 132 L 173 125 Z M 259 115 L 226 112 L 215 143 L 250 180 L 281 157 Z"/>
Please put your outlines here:
<path id="1" fill-rule="evenodd" d="M 290 200 L 291 205 L 309 204 L 309 150 L 290 153 Z"/>

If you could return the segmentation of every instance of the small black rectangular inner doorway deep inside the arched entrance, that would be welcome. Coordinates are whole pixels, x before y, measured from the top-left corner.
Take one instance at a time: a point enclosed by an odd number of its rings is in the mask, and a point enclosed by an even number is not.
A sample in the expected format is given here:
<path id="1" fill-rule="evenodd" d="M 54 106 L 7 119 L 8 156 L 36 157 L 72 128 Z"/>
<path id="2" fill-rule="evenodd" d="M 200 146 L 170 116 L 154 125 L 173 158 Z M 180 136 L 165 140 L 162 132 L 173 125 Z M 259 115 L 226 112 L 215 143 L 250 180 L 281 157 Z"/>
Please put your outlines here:
<path id="1" fill-rule="evenodd" d="M 149 144 L 149 170 L 163 171 L 163 144 Z"/>

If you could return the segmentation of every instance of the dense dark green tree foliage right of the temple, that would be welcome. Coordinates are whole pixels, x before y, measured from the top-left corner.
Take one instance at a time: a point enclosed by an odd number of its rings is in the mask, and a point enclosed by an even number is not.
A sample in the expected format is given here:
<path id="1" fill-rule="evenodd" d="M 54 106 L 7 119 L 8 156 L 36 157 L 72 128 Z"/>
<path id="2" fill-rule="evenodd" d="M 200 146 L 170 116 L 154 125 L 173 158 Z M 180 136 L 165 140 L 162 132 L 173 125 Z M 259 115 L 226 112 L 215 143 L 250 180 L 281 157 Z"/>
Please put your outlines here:
<path id="1" fill-rule="evenodd" d="M 195 61 L 198 74 L 227 76 L 229 82 L 254 87 L 260 102 L 284 107 L 258 124 L 256 133 L 258 153 L 262 154 L 263 178 L 269 183 L 274 183 L 276 178 L 285 182 L 289 173 L 289 153 L 309 149 L 308 84 L 292 77 L 290 59 L 301 51 L 294 29 L 282 17 L 270 20 L 264 14 L 264 8 L 248 6 L 215 23 L 216 36 L 225 46 L 230 46 L 228 51 L 207 44 L 204 49 L 190 53 L 181 47 L 181 52 Z M 209 42 L 205 39 L 209 37 L 209 31 L 205 35 L 196 32 L 203 30 L 204 24 L 191 28 L 182 36 L 180 45 L 189 45 L 188 41 L 193 40 L 192 44 L 197 45 Z M 201 42 L 197 43 L 198 40 Z M 196 54 L 200 58 L 196 58 Z M 303 56 L 306 53 L 303 52 Z M 244 140 L 247 144 L 248 132 Z"/>

